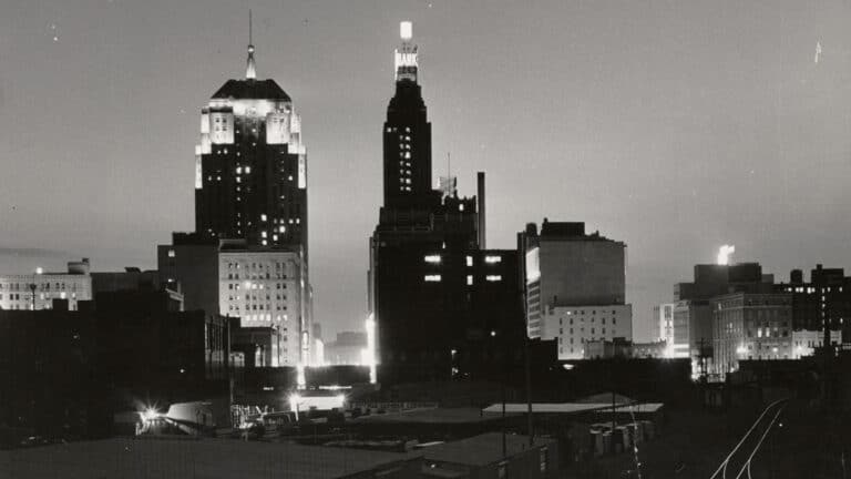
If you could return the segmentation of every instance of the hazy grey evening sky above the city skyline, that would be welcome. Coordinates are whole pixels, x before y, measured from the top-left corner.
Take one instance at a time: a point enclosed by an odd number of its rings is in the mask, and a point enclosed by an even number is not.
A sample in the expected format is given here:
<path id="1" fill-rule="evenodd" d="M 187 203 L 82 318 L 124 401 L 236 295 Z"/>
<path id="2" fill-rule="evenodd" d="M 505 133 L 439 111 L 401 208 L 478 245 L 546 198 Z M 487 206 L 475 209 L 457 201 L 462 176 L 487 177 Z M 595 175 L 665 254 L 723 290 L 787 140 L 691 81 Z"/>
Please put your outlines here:
<path id="1" fill-rule="evenodd" d="M 156 267 L 194 227 L 199 110 L 245 68 L 294 99 L 326 337 L 360 327 L 399 21 L 433 164 L 488 173 L 488 243 L 585 221 L 628 245 L 635 337 L 724 243 L 851 267 L 851 2 L 0 2 L 0 271 Z M 816 45 L 822 53 L 816 63 Z"/>

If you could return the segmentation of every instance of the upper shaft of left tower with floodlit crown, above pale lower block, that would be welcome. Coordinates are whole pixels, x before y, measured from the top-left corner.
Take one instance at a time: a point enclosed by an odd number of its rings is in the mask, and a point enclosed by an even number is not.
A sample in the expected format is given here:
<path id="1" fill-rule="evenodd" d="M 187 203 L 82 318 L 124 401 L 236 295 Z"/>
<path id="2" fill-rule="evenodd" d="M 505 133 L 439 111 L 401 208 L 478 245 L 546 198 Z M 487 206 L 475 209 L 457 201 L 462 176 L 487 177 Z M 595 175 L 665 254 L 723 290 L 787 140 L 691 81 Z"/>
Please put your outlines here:
<path id="1" fill-rule="evenodd" d="M 201 112 L 195 231 L 250 246 L 307 254 L 307 155 L 293 100 L 258 80 L 254 45 L 245 79 L 228 80 Z"/>

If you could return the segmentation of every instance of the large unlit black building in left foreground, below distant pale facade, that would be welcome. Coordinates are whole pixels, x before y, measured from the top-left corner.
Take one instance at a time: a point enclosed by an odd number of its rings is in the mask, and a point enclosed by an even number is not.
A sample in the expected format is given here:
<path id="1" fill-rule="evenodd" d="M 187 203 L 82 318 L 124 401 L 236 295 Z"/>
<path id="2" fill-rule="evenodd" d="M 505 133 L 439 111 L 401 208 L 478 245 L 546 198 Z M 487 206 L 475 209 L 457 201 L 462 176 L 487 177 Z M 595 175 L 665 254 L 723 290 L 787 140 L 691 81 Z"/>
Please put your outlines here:
<path id="1" fill-rule="evenodd" d="M 227 322 L 165 291 L 99 293 L 68 310 L 0 310 L 0 427 L 103 437 L 112 416 L 227 393 Z"/>

